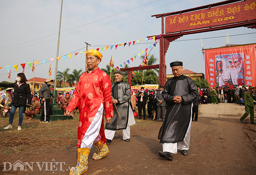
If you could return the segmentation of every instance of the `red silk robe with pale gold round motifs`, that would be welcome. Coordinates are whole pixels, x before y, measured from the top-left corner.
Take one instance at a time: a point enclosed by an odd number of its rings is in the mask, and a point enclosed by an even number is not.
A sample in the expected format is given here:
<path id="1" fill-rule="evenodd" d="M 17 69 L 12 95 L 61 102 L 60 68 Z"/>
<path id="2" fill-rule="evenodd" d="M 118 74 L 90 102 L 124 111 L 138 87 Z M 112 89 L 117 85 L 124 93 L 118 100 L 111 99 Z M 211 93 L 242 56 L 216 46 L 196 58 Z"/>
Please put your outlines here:
<path id="1" fill-rule="evenodd" d="M 113 117 L 111 80 L 107 73 L 98 68 L 91 73 L 87 71 L 81 75 L 76 85 L 74 96 L 66 108 L 66 110 L 72 112 L 78 106 L 80 112 L 77 147 L 80 147 L 81 141 L 100 108 L 101 103 L 104 106 L 105 117 Z M 103 117 L 100 126 L 102 144 L 106 142 Z"/>

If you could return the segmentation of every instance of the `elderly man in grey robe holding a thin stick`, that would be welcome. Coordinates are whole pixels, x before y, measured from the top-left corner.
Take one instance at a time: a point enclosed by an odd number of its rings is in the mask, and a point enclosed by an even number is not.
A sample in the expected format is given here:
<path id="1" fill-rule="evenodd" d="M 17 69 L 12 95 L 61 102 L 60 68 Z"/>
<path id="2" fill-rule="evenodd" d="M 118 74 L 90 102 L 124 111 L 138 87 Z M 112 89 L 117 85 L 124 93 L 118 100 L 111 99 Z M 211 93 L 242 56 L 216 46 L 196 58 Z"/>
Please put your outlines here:
<path id="1" fill-rule="evenodd" d="M 111 144 L 115 131 L 119 129 L 122 129 L 122 139 L 129 142 L 130 126 L 135 124 L 132 108 L 129 104 L 131 98 L 130 85 L 122 80 L 122 71 L 115 70 L 113 73 L 116 80 L 111 87 L 114 117 L 105 127 L 107 144 Z"/>

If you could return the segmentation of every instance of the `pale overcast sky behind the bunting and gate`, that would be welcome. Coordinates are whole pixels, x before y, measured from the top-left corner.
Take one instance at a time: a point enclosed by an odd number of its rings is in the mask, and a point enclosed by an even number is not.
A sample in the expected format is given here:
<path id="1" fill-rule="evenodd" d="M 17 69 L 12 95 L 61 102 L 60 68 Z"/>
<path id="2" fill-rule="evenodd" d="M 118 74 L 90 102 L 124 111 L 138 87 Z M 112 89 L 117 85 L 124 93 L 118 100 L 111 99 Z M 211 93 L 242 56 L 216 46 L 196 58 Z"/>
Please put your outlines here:
<path id="1" fill-rule="evenodd" d="M 111 54 L 116 66 L 134 57 L 152 41 L 140 41 L 133 46 L 115 46 L 106 50 L 106 46 L 122 44 L 161 34 L 161 18 L 151 15 L 190 9 L 221 0 L 63 0 L 59 57 L 73 54 L 67 62 L 61 57 L 58 71 L 70 68 L 85 70 L 85 42 L 91 44 L 89 49 L 105 47 L 102 52 L 100 68 L 109 64 Z M 22 72 L 20 64 L 40 61 L 35 66 L 35 77 L 48 78 L 49 58 L 56 58 L 59 16 L 61 0 L 0 0 L 0 82 L 7 78 L 6 66 L 11 66 L 11 82 Z M 226 38 L 210 38 L 230 35 L 229 44 L 255 43 L 256 30 L 240 27 L 208 33 L 185 35 L 171 42 L 166 54 L 167 74 L 171 74 L 170 62 L 184 62 L 184 69 L 204 73 L 204 57 L 200 38 L 204 48 L 226 45 Z M 254 33 L 249 35 L 240 35 Z M 231 36 L 237 35 L 237 36 Z M 193 40 L 198 39 L 199 40 Z M 78 53 L 74 57 L 74 53 Z M 101 49 L 100 49 L 101 52 Z M 159 58 L 159 43 L 151 53 Z M 142 54 L 142 53 L 141 53 Z M 137 56 L 138 57 L 138 56 Z M 192 60 L 193 59 L 193 60 Z M 192 60 L 192 61 L 191 61 Z M 191 61 L 191 62 L 190 62 Z M 190 63 L 189 63 L 190 62 Z M 141 60 L 130 60 L 130 67 L 139 66 Z M 189 64 L 188 64 L 189 63 Z M 18 71 L 13 65 L 19 64 Z M 159 64 L 159 60 L 158 60 Z M 25 67 L 27 79 L 33 78 L 33 72 Z M 51 64 L 54 79 L 56 59 Z"/>

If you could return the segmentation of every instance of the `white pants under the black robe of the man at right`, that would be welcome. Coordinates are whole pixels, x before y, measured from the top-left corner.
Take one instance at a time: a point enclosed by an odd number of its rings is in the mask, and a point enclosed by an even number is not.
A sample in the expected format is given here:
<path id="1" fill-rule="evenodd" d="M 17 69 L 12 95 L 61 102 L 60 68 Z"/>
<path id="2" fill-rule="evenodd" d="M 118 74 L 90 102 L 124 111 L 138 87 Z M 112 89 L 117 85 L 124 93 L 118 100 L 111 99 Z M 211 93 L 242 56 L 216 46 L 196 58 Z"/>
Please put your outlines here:
<path id="1" fill-rule="evenodd" d="M 191 126 L 189 127 L 186 138 L 182 142 L 163 143 L 163 152 L 169 152 L 169 153 L 176 154 L 177 149 L 188 150 L 189 149 L 189 142 L 190 142 L 190 129 L 191 129 Z"/>

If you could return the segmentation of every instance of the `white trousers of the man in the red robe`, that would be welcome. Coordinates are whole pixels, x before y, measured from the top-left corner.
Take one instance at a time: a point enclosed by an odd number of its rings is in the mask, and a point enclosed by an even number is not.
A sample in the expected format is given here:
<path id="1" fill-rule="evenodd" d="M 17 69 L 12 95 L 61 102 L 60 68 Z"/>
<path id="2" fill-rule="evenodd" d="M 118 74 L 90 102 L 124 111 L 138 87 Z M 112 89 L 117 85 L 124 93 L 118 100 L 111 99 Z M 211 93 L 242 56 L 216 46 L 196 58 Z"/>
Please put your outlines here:
<path id="1" fill-rule="evenodd" d="M 93 143 L 98 142 L 102 136 L 100 135 L 100 126 L 102 122 L 103 115 L 103 104 L 100 105 L 93 121 L 91 122 L 89 128 L 87 129 L 85 135 L 83 136 L 81 142 L 81 148 L 89 148 L 93 147 Z"/>

